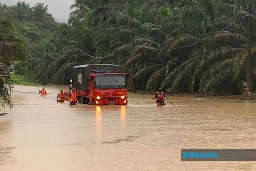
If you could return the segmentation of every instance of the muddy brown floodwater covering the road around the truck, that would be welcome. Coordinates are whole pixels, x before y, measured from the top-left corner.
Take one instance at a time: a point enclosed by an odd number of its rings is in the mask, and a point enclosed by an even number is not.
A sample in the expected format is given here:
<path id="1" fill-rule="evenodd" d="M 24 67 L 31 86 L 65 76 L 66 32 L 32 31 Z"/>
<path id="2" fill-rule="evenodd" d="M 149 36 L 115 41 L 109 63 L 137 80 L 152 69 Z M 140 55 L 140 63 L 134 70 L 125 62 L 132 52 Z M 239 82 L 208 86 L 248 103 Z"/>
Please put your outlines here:
<path id="1" fill-rule="evenodd" d="M 15 85 L 0 117 L 0 170 L 256 170 L 256 162 L 181 162 L 180 149 L 256 148 L 256 104 L 129 94 L 127 106 L 57 103 Z M 219 101 L 219 99 L 217 100 Z M 207 102 L 207 103 L 206 103 Z M 3 111 L 1 111 L 3 112 Z"/>

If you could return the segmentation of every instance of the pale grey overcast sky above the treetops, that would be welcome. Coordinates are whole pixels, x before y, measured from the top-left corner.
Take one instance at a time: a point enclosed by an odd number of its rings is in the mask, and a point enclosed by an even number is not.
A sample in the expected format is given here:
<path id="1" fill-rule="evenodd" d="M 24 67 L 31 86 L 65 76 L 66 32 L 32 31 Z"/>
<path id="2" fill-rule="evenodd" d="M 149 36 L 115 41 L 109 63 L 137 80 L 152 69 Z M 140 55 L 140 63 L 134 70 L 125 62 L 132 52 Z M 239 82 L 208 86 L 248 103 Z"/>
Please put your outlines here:
<path id="1" fill-rule="evenodd" d="M 1 0 L 2 4 L 14 5 L 18 1 L 23 0 Z M 56 21 L 66 22 L 70 14 L 70 5 L 75 0 L 25 0 L 25 3 L 29 3 L 30 7 L 33 7 L 37 2 L 44 3 L 48 6 L 48 12 L 52 14 Z"/>

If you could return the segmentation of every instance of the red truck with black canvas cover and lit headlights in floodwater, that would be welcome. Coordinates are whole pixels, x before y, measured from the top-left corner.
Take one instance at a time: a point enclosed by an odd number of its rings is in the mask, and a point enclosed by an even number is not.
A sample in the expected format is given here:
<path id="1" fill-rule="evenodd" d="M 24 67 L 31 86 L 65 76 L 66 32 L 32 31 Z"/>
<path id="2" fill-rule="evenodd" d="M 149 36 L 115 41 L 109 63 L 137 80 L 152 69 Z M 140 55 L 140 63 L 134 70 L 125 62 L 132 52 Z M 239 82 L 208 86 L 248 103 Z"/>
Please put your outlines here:
<path id="1" fill-rule="evenodd" d="M 127 105 L 127 89 L 122 67 L 111 64 L 73 67 L 73 87 L 78 100 L 90 105 Z M 69 92 L 65 92 L 69 95 Z"/>

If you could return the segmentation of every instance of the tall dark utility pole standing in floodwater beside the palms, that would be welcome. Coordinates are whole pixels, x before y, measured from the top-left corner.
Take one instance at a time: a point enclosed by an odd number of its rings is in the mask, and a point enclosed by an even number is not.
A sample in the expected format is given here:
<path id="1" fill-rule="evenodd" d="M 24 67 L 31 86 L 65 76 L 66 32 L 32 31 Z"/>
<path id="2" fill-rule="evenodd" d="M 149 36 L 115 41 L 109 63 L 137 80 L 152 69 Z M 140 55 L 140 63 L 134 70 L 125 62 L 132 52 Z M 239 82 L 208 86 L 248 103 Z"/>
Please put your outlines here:
<path id="1" fill-rule="evenodd" d="M 250 14 L 252 14 L 252 3 L 249 3 L 249 15 Z M 247 102 L 251 100 L 251 23 L 252 17 L 248 16 Z"/>

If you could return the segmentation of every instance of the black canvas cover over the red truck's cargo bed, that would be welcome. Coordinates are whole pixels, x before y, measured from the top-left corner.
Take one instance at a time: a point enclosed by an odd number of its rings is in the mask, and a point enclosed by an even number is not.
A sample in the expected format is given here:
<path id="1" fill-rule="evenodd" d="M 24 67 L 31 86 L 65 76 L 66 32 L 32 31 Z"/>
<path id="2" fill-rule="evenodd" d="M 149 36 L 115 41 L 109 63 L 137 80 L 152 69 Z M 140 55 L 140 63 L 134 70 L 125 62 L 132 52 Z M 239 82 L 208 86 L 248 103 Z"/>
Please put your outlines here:
<path id="1" fill-rule="evenodd" d="M 122 67 L 112 64 L 79 65 L 73 67 L 72 84 L 74 88 L 88 90 L 89 75 L 96 71 L 122 71 Z"/>

